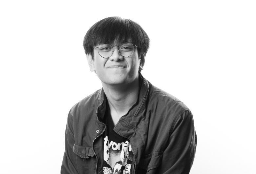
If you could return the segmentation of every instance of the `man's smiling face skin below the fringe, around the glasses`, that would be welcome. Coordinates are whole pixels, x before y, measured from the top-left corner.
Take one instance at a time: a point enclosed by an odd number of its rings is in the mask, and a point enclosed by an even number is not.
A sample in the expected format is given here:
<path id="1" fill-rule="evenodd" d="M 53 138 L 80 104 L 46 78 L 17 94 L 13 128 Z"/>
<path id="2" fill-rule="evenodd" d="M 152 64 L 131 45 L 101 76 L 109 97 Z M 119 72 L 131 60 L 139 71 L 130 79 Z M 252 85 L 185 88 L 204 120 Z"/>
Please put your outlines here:
<path id="1" fill-rule="evenodd" d="M 128 40 L 128 42 L 132 43 L 131 40 Z M 111 45 L 119 46 L 120 44 L 122 43 L 112 43 Z M 109 58 L 101 57 L 97 48 L 93 51 L 94 60 L 91 62 L 91 65 L 89 61 L 88 63 L 90 70 L 96 71 L 102 83 L 108 85 L 125 85 L 133 82 L 138 77 L 140 59 L 136 48 L 134 53 L 129 57 L 120 55 L 118 47 L 114 47 L 114 52 Z"/>

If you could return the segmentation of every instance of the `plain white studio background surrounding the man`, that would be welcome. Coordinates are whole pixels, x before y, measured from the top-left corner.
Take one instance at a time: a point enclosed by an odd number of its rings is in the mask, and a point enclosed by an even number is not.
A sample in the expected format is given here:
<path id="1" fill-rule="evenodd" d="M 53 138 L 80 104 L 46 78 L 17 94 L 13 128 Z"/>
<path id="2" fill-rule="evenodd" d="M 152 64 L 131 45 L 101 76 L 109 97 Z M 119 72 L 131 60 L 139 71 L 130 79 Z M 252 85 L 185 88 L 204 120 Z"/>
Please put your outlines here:
<path id="1" fill-rule="evenodd" d="M 0 173 L 60 173 L 68 112 L 101 88 L 83 37 L 109 16 L 141 25 L 151 40 L 142 74 L 191 109 L 190 173 L 256 173 L 255 9 L 246 0 L 1 1 Z"/>

